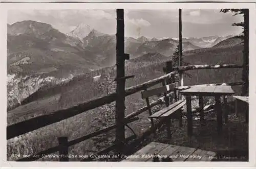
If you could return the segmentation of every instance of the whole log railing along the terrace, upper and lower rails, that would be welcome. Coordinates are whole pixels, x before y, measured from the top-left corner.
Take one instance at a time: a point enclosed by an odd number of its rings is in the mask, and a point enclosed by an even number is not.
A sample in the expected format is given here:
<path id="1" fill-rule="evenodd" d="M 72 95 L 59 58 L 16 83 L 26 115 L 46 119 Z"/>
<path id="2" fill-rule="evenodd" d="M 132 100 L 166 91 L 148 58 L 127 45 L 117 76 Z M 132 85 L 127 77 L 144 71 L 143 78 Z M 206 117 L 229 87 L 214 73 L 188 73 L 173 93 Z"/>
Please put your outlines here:
<path id="1" fill-rule="evenodd" d="M 171 65 L 171 64 L 166 64 L 166 65 Z M 125 89 L 125 96 L 134 94 L 134 93 L 139 92 L 141 90 L 144 90 L 148 87 L 151 87 L 151 86 L 154 86 L 156 84 L 162 83 L 163 80 L 170 80 L 171 78 L 173 78 L 174 75 L 176 75 L 180 72 L 186 71 L 186 70 L 220 69 L 220 68 L 242 68 L 242 66 L 237 65 L 237 64 L 222 64 L 222 65 L 193 65 L 193 66 L 173 67 L 174 71 L 172 71 L 170 73 L 167 73 L 166 75 L 163 75 L 159 78 L 156 78 L 156 79 L 138 84 L 136 86 L 126 88 Z M 170 70 L 170 69 L 172 69 L 172 67 L 171 68 L 167 67 L 167 69 Z M 243 84 L 244 84 L 244 82 L 229 82 L 229 83 L 203 84 L 203 85 L 232 85 L 233 86 L 233 85 L 243 85 Z M 179 90 L 179 89 L 182 89 L 182 88 L 183 87 L 180 86 L 177 89 Z M 172 93 L 168 93 L 167 96 L 170 96 L 171 94 Z M 31 119 L 25 120 L 24 122 L 19 122 L 17 124 L 7 126 L 7 139 L 11 139 L 11 138 L 14 138 L 16 136 L 28 133 L 28 132 L 33 131 L 33 130 L 36 130 L 38 128 L 45 127 L 45 126 L 57 123 L 57 122 L 59 122 L 63 119 L 70 118 L 70 117 L 75 116 L 75 115 L 80 114 L 80 113 L 86 113 L 86 111 L 88 111 L 88 110 L 94 109 L 96 107 L 103 106 L 105 104 L 109 104 L 111 102 L 114 102 L 115 100 L 116 100 L 116 93 L 111 93 L 109 95 L 102 96 L 101 98 L 91 100 L 91 101 L 76 105 L 76 106 L 68 108 L 68 109 L 58 110 L 58 111 L 52 112 L 51 114 L 41 115 L 41 116 L 38 116 L 38 117 L 34 117 L 34 118 L 31 118 Z M 164 97 L 162 97 L 162 98 L 159 98 L 158 100 L 152 102 L 150 104 L 150 106 L 153 107 L 155 105 L 163 104 L 164 102 L 165 102 Z M 136 117 L 136 116 L 145 112 L 146 110 L 147 110 L 147 107 L 142 107 L 139 110 L 137 110 L 135 112 L 132 112 L 129 115 L 126 115 L 124 124 L 127 125 L 131 122 L 134 122 L 135 120 L 138 120 L 139 118 Z M 83 136 L 83 137 L 80 137 L 80 138 L 77 138 L 77 139 L 71 140 L 71 141 L 68 141 L 67 137 L 59 138 L 59 146 L 50 148 L 50 149 L 42 151 L 42 152 L 39 152 L 39 153 L 37 153 L 35 155 L 31 155 L 30 157 L 27 157 L 27 158 L 19 159 L 17 161 L 32 161 L 32 160 L 36 160 L 36 159 L 41 158 L 42 154 L 47 155 L 47 154 L 51 154 L 51 153 L 54 153 L 54 152 L 57 152 L 57 151 L 59 151 L 60 154 L 66 154 L 66 156 L 61 157 L 60 160 L 61 161 L 67 161 L 68 159 L 65 158 L 65 157 L 67 157 L 67 154 L 68 154 L 68 151 L 67 151 L 68 147 L 70 147 L 70 146 L 72 146 L 76 143 L 79 143 L 81 141 L 90 139 L 90 138 L 92 138 L 94 136 L 97 136 L 99 134 L 108 132 L 112 129 L 115 129 L 116 127 L 117 127 L 117 125 L 113 125 L 113 126 L 101 129 L 99 131 L 93 132 L 91 134 L 88 134 L 86 136 Z M 148 133 L 151 133 L 151 130 L 148 130 L 147 134 Z M 129 141 L 129 140 L 134 139 L 134 138 L 135 138 L 135 136 L 133 135 L 133 136 L 130 136 L 130 137 L 126 138 L 125 141 Z M 116 145 L 117 144 L 113 144 L 111 147 L 107 148 L 106 150 L 113 149 L 113 148 L 116 147 Z M 104 151 L 106 151 L 106 150 L 104 150 Z"/>

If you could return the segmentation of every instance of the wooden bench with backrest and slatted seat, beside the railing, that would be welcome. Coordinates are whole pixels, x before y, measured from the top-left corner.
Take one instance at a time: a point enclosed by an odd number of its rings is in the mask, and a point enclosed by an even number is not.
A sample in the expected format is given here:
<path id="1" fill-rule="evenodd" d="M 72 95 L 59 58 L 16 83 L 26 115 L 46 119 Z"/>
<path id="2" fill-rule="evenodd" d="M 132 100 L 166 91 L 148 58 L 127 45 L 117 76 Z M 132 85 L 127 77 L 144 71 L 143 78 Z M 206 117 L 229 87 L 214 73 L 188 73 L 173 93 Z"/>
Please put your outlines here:
<path id="1" fill-rule="evenodd" d="M 165 126 L 167 130 L 167 135 L 169 138 L 172 137 L 170 132 L 170 125 L 171 125 L 172 118 L 179 119 L 179 125 L 180 127 L 182 127 L 182 107 L 185 105 L 185 100 L 180 100 L 169 105 L 169 98 L 166 96 L 167 92 L 172 90 L 176 93 L 176 89 L 175 89 L 176 87 L 178 87 L 178 82 L 141 92 L 142 99 L 146 100 L 148 113 L 150 114 L 149 118 L 151 119 L 152 128 L 154 128 L 154 118 L 155 119 L 166 118 Z M 152 114 L 150 101 L 148 98 L 150 96 L 158 95 L 160 93 L 164 93 L 164 100 L 165 100 L 166 107 Z"/>

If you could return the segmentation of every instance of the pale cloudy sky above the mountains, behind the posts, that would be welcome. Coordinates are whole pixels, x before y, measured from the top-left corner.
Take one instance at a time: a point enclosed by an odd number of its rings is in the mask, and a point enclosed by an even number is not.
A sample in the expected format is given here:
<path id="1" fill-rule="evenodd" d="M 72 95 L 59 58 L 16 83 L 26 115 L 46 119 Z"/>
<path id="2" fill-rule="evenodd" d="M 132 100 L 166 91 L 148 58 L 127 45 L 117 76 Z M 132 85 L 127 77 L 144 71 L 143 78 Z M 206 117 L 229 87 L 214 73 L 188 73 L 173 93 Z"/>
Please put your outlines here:
<path id="1" fill-rule="evenodd" d="M 116 10 L 9 10 L 8 23 L 35 20 L 69 33 L 80 23 L 106 34 L 116 33 Z M 220 9 L 182 10 L 182 36 L 238 35 L 241 27 L 231 26 L 243 21 L 242 15 L 220 13 Z M 126 37 L 178 37 L 179 10 L 124 10 Z"/>

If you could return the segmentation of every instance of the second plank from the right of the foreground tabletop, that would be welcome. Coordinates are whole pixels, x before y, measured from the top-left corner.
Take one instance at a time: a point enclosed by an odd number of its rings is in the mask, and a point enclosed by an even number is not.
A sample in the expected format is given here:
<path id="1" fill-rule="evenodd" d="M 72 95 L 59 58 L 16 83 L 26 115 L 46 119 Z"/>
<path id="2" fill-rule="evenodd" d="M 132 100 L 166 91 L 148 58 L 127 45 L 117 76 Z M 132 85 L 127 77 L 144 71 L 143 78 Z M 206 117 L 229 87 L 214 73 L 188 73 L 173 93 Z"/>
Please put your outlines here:
<path id="1" fill-rule="evenodd" d="M 179 149 L 175 150 L 171 155 L 177 156 L 173 161 L 185 161 L 196 150 L 195 148 L 179 146 Z"/>

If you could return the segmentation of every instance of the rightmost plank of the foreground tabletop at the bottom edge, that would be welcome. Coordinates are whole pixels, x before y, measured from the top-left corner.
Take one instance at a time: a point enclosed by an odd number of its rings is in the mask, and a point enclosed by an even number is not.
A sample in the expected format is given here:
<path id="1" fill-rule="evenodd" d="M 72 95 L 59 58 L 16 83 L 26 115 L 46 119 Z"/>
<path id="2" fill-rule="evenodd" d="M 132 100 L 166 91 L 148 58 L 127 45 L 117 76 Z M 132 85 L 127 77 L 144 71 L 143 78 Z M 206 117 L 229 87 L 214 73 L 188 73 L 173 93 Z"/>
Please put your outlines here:
<path id="1" fill-rule="evenodd" d="M 186 161 L 212 161 L 216 155 L 215 152 L 197 149 Z"/>

